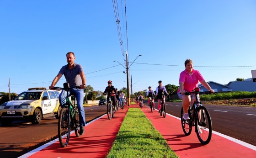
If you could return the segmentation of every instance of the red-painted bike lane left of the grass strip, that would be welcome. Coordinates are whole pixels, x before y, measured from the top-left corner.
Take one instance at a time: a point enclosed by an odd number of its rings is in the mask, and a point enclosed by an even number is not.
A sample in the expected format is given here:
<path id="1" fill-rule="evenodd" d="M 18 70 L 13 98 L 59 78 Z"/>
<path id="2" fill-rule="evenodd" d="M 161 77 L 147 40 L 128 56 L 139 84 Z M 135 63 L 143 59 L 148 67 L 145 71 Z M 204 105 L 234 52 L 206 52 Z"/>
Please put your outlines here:
<path id="1" fill-rule="evenodd" d="M 85 126 L 85 134 L 81 137 L 73 133 L 67 147 L 60 147 L 57 141 L 29 158 L 106 158 L 127 111 L 127 107 L 119 109 L 111 120 L 105 115 Z"/>

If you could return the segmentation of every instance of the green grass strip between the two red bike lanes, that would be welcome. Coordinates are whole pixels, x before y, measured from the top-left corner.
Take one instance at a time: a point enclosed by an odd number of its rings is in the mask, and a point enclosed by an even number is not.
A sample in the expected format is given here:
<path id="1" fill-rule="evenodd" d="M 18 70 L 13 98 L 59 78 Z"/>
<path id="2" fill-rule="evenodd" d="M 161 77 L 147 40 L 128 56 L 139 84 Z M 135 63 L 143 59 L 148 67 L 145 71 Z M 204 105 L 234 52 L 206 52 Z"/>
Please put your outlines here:
<path id="1" fill-rule="evenodd" d="M 139 108 L 129 108 L 107 158 L 178 158 Z"/>

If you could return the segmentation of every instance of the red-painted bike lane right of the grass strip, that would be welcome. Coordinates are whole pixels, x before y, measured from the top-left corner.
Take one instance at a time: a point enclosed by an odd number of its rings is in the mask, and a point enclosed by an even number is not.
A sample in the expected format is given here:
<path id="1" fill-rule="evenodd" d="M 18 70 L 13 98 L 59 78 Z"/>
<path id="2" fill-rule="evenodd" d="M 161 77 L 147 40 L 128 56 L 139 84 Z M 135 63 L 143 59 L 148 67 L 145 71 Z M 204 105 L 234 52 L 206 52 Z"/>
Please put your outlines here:
<path id="1" fill-rule="evenodd" d="M 212 134 L 209 144 L 202 145 L 197 139 L 194 127 L 191 135 L 185 136 L 180 119 L 167 114 L 164 118 L 158 111 L 152 113 L 148 106 L 144 106 L 142 111 L 180 158 L 256 158 L 255 150 L 216 134 Z"/>

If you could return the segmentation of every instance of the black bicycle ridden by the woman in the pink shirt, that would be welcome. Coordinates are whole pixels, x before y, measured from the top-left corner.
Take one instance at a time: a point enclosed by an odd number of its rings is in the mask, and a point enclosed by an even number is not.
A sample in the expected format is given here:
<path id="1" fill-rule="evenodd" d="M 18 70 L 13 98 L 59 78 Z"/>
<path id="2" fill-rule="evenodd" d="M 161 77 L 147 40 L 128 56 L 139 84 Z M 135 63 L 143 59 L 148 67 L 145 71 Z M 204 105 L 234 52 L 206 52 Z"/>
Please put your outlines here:
<path id="1" fill-rule="evenodd" d="M 186 136 L 191 134 L 192 126 L 195 126 L 195 132 L 197 133 L 197 138 L 202 144 L 205 145 L 211 141 L 212 120 L 208 110 L 203 106 L 203 103 L 198 102 L 199 91 L 200 89 L 197 87 L 192 92 L 185 93 L 185 95 L 194 94 L 196 99 L 195 99 L 195 102 L 189 106 L 189 109 L 188 109 L 189 120 L 183 119 L 183 113 L 184 113 L 183 107 L 181 108 L 181 126 Z"/>

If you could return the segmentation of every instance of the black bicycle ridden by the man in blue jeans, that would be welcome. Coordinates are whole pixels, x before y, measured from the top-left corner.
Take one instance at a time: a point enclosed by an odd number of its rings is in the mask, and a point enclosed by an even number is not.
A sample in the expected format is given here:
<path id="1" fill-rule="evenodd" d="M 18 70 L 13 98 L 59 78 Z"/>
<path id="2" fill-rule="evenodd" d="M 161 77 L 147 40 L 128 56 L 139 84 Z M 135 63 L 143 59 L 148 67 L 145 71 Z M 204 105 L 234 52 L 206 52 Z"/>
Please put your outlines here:
<path id="1" fill-rule="evenodd" d="M 79 123 L 79 112 L 77 106 L 69 100 L 69 90 L 75 88 L 80 89 L 79 86 L 69 87 L 68 83 L 64 83 L 64 88 L 61 87 L 54 87 L 53 89 L 61 89 L 67 92 L 66 95 L 66 103 L 63 105 L 60 114 L 59 114 L 59 121 L 58 121 L 58 136 L 59 136 L 59 143 L 61 147 L 67 147 L 70 138 L 70 132 L 75 129 L 75 136 L 80 137 L 80 123 Z"/>

